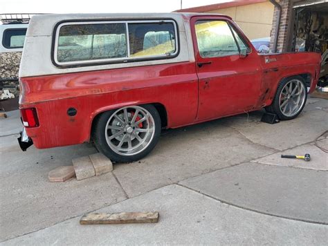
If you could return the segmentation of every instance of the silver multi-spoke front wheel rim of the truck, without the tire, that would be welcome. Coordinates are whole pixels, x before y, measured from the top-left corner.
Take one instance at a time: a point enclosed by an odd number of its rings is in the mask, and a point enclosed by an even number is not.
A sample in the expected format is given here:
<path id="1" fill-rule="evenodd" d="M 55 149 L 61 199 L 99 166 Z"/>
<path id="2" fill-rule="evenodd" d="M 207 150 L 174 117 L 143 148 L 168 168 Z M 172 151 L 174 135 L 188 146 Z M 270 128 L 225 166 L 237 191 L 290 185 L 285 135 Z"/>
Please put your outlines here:
<path id="1" fill-rule="evenodd" d="M 307 90 L 298 79 L 292 79 L 285 84 L 280 93 L 279 107 L 281 113 L 286 117 L 293 117 L 302 110 Z"/>

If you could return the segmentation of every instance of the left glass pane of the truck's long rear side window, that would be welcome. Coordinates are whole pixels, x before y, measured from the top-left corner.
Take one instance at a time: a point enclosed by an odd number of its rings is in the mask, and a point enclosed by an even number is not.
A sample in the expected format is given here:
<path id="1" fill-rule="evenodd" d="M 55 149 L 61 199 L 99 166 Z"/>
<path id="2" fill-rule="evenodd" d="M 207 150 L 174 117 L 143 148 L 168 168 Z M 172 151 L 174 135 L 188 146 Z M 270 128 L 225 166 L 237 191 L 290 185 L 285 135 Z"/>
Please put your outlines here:
<path id="1" fill-rule="evenodd" d="M 125 23 L 66 25 L 60 28 L 57 61 L 127 57 Z"/>

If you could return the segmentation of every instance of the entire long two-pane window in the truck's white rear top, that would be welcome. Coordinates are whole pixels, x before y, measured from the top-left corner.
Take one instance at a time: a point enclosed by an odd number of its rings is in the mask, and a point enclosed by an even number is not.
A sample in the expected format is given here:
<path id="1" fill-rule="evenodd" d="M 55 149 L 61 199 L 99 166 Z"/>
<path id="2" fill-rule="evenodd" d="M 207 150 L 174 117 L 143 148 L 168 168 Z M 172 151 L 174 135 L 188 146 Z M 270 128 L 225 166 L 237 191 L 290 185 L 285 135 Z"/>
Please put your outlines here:
<path id="1" fill-rule="evenodd" d="M 176 33 L 174 21 L 64 23 L 57 28 L 55 62 L 170 58 L 177 53 Z"/>

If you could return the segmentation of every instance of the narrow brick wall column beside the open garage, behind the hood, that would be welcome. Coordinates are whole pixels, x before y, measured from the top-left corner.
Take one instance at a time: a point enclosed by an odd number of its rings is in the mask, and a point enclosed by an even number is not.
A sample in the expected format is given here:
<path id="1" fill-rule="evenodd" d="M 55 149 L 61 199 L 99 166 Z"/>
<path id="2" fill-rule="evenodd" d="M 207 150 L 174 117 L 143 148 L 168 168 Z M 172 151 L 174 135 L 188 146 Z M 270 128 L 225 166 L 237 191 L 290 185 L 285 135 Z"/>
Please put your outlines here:
<path id="1" fill-rule="evenodd" d="M 291 0 L 280 0 L 282 6 L 282 13 L 280 19 L 280 28 L 278 35 L 277 53 L 286 52 L 288 48 L 289 32 L 291 32 L 291 18 L 293 14 L 293 1 Z M 270 49 L 273 50 L 273 42 L 275 40 L 275 24 L 277 23 L 278 8 L 275 7 L 273 12 L 273 22 L 271 30 L 271 43 Z"/>

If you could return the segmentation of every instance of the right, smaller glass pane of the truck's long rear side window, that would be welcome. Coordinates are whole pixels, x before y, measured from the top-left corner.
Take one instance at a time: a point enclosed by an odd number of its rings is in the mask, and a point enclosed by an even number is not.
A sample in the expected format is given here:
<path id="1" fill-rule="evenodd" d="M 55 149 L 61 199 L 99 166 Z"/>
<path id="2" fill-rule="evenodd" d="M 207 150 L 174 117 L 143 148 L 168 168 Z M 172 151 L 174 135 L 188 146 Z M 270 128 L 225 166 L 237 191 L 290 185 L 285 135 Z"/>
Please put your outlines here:
<path id="1" fill-rule="evenodd" d="M 131 57 L 172 55 L 176 52 L 173 23 L 129 23 L 129 47 Z"/>

